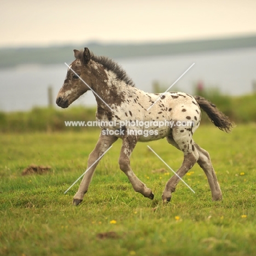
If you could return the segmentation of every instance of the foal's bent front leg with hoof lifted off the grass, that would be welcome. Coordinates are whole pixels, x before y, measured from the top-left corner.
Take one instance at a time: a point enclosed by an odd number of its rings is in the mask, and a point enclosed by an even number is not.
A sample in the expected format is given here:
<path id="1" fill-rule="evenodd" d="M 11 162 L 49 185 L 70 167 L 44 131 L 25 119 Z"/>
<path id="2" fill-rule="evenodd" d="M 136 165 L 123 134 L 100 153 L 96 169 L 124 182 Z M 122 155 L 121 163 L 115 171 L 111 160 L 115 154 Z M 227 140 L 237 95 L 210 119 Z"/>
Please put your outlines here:
<path id="1" fill-rule="evenodd" d="M 129 178 L 129 181 L 131 182 L 132 187 L 136 192 L 141 193 L 143 196 L 148 197 L 149 199 L 154 199 L 152 190 L 147 188 L 146 185 L 138 179 L 130 166 L 130 156 L 132 150 L 136 146 L 137 141 L 138 138 L 136 136 L 125 136 L 123 138 L 123 145 L 119 157 L 119 166 L 120 169 Z"/>

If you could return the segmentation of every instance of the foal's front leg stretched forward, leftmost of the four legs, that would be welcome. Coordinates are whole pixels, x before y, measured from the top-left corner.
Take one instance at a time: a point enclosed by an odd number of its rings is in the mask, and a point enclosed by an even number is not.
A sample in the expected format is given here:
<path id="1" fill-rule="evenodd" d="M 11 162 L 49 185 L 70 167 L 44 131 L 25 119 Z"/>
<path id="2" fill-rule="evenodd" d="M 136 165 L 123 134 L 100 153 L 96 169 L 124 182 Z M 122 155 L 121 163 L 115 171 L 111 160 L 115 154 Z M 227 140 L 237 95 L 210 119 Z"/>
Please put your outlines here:
<path id="1" fill-rule="evenodd" d="M 115 142 L 117 141 L 117 137 L 110 136 L 110 135 L 102 135 L 100 134 L 100 137 L 98 138 L 98 142 L 92 150 L 91 154 L 89 155 L 88 158 L 88 164 L 87 168 L 90 168 L 89 171 L 87 171 L 82 179 L 82 182 L 80 183 L 79 189 L 77 191 L 77 194 L 75 194 L 74 199 L 73 199 L 73 205 L 79 205 L 80 202 L 83 201 L 84 194 L 88 191 L 92 176 L 94 175 L 95 168 L 100 162 L 98 160 L 95 162 L 100 156 L 106 152 L 106 150 Z M 94 164 L 95 162 L 95 164 Z M 93 165 L 94 164 L 94 165 Z M 93 165 L 93 166 L 92 166 Z"/>

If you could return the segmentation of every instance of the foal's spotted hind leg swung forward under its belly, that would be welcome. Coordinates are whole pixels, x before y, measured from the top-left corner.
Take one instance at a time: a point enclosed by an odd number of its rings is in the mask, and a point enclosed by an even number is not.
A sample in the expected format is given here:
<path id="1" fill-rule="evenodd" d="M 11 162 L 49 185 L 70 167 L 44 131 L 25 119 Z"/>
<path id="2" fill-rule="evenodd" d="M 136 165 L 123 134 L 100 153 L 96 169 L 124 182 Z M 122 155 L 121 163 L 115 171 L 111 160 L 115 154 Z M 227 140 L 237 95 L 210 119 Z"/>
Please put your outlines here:
<path id="1" fill-rule="evenodd" d="M 182 150 L 184 153 L 184 159 L 182 166 L 176 172 L 180 178 L 182 178 L 197 162 L 199 159 L 199 154 L 194 146 L 194 141 L 192 139 L 191 129 L 184 129 L 184 127 L 176 127 L 172 131 L 172 135 L 167 137 L 168 143 L 172 144 L 174 147 Z M 180 178 L 173 175 L 165 185 L 165 190 L 162 193 L 162 200 L 164 202 L 169 202 L 172 197 L 172 193 L 175 191 Z"/>

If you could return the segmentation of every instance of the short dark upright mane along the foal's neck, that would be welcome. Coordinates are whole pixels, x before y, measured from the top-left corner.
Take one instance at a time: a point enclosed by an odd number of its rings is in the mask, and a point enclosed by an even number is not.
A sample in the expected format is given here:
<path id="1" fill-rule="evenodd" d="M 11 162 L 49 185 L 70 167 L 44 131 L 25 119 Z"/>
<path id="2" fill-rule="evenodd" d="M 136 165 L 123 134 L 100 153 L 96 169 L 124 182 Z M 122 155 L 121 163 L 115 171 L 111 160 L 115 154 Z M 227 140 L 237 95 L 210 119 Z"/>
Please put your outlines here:
<path id="1" fill-rule="evenodd" d="M 127 85 L 135 87 L 135 84 L 133 83 L 132 79 L 127 75 L 124 69 L 117 62 L 109 59 L 108 57 L 95 56 L 91 51 L 90 54 L 91 60 L 100 63 L 107 70 L 113 71 L 117 75 L 117 78 L 124 81 Z"/>

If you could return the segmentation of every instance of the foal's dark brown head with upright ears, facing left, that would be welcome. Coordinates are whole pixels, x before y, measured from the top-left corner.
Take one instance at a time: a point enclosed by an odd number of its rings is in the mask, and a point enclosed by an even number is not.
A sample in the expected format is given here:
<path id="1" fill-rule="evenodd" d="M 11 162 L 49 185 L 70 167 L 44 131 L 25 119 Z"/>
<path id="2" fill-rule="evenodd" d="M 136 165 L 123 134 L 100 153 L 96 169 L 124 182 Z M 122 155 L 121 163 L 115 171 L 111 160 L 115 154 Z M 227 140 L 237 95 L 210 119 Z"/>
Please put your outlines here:
<path id="1" fill-rule="evenodd" d="M 89 90 L 88 86 L 79 77 L 85 82 L 88 81 L 90 51 L 88 48 L 84 48 L 84 51 L 74 50 L 74 56 L 75 61 L 69 66 L 64 84 L 56 98 L 56 104 L 62 108 L 67 108 L 73 101 Z"/>

